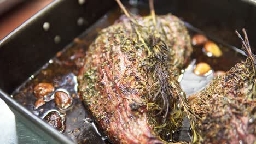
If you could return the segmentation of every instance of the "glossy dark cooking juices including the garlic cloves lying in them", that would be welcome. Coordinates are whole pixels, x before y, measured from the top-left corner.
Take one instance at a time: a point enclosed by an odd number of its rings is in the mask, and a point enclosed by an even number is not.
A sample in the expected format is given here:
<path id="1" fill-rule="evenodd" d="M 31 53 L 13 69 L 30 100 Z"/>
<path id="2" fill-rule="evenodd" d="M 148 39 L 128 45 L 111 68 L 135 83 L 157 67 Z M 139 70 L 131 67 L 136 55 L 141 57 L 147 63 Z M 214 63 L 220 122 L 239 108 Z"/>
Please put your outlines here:
<path id="1" fill-rule="evenodd" d="M 16 89 L 12 94 L 13 98 L 75 142 L 108 142 L 106 136 L 97 130 L 93 118 L 79 97 L 77 75 L 83 66 L 85 51 L 98 31 L 112 25 L 119 16 L 119 9 L 116 9 L 98 20 Z M 181 87 L 187 95 L 204 88 L 214 75 L 224 73 L 241 59 L 245 59 L 234 50 L 204 35 L 193 37 L 198 34 L 194 29 L 189 31 L 191 38 L 194 38 L 193 56 L 179 76 Z M 182 129 L 173 131 L 171 135 L 177 141 L 190 141 L 188 122 L 183 124 L 185 126 Z"/>

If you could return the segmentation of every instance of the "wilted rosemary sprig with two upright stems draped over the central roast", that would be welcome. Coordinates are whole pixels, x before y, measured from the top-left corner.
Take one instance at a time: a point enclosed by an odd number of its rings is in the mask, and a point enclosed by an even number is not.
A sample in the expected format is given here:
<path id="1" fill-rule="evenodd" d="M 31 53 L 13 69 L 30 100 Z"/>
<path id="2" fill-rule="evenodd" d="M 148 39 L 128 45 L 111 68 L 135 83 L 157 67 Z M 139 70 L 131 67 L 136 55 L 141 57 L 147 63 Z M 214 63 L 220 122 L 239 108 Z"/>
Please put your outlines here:
<path id="1" fill-rule="evenodd" d="M 147 31 L 143 27 L 138 27 L 137 20 L 131 17 L 120 0 L 116 1 L 130 19 L 133 31 L 137 34 L 137 43 L 141 43 L 147 50 L 147 56 L 142 60 L 141 67 L 146 70 L 146 76 L 150 75 L 154 79 L 148 92 L 149 101 L 147 108 L 159 111 L 157 115 L 163 115 L 164 119 L 170 118 L 176 126 L 178 125 L 177 122 L 183 118 L 183 113 L 185 113 L 189 118 L 193 131 L 192 142 L 195 143 L 201 140 L 201 136 L 196 132 L 195 113 L 188 106 L 185 92 L 179 87 L 178 82 L 171 77 L 172 71 L 169 70 L 170 65 L 167 65 L 167 62 L 171 61 L 168 57 L 171 47 L 168 47 L 156 28 L 158 21 L 155 15 L 153 0 L 149 0 L 150 13 L 154 25 L 153 31 Z M 161 26 L 160 29 L 164 31 L 161 22 L 159 25 Z M 166 127 L 168 124 L 164 123 L 164 125 Z M 156 128 L 163 127 L 156 126 Z"/>

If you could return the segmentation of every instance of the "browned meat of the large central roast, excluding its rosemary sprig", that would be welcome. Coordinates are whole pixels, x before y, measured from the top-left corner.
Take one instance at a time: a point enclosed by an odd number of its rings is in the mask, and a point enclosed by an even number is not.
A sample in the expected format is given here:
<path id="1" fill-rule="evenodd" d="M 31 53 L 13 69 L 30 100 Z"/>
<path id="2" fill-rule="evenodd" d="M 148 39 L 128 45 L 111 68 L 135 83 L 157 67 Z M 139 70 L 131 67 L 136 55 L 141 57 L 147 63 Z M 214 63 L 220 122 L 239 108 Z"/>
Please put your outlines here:
<path id="1" fill-rule="evenodd" d="M 153 32 L 150 16 L 137 17 L 136 20 L 144 27 L 143 32 Z M 168 58 L 162 62 L 166 64 L 164 68 L 170 71 L 170 79 L 177 80 L 192 51 L 187 29 L 171 14 L 158 16 L 156 29 L 159 30 L 159 39 L 165 41 L 167 47 Z M 144 39 L 146 43 L 154 45 L 159 42 L 159 39 L 150 40 L 149 36 Z M 148 93 L 154 77 L 141 66 L 148 52 L 145 46 L 134 40 L 137 37 L 125 17 L 103 29 L 86 54 L 84 67 L 78 76 L 79 91 L 98 125 L 112 142 L 164 143 L 158 134 L 172 133 L 177 125 L 181 125 L 182 118 L 176 125 L 167 116 L 168 128 L 173 128 L 168 131 L 161 131 L 161 127 L 156 128 L 154 123 L 150 123 L 153 117 L 164 118 L 162 115 L 149 115 Z M 172 109 L 173 105 L 170 103 L 167 109 Z"/>

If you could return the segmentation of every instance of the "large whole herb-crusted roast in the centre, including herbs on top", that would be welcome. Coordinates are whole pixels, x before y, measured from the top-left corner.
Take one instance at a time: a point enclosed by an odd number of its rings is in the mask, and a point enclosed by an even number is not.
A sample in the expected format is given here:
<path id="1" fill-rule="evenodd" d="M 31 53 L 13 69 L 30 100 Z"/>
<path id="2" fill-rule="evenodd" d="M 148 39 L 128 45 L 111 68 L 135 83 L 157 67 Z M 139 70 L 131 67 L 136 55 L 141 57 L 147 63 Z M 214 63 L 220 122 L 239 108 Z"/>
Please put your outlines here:
<path id="1" fill-rule="evenodd" d="M 184 23 L 171 14 L 123 16 L 100 32 L 86 53 L 79 92 L 113 143 L 171 139 L 184 116 L 176 80 L 190 43 Z"/>

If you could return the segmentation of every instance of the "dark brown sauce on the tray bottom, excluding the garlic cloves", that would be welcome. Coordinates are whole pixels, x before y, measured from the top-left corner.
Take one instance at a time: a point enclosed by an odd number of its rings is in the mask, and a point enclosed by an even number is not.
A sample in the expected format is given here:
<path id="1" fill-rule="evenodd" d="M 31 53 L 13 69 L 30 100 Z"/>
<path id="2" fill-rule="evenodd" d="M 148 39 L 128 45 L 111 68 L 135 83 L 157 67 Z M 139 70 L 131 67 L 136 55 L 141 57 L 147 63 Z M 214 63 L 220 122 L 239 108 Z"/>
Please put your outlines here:
<path id="1" fill-rule="evenodd" d="M 135 11 L 135 13 L 141 15 L 148 14 L 148 11 L 145 9 L 132 8 L 131 11 Z M 114 23 L 119 16 L 119 9 L 110 11 L 110 13 L 103 16 L 84 34 L 75 39 L 72 44 L 68 45 L 61 52 L 58 52 L 56 57 L 50 59 L 49 62 L 36 74 L 32 75 L 28 81 L 16 89 L 16 91 L 13 92 L 13 98 L 41 118 L 44 118 L 49 111 L 58 111 L 65 117 L 65 122 L 63 122 L 65 129 L 62 133 L 71 137 L 71 139 L 77 143 L 106 143 L 106 137 L 98 132 L 90 113 L 86 110 L 82 102 L 82 98 L 79 97 L 76 75 L 78 75 L 79 69 L 83 65 L 85 51 L 88 49 L 92 40 L 96 38 L 98 31 Z M 195 33 L 193 29 L 190 29 L 191 35 Z M 193 63 L 191 63 L 190 67 L 193 68 L 198 62 L 206 62 L 211 65 L 213 70 L 227 71 L 243 59 L 243 56 L 237 55 L 234 50 L 222 46 L 221 44 L 218 45 L 223 52 L 223 56 L 219 58 L 208 57 L 203 53 L 202 47 L 194 47 L 191 60 L 195 60 L 191 61 Z M 206 83 L 212 78 L 211 75 L 207 77 L 197 76 L 193 74 L 190 69 L 185 71 L 181 86 L 184 88 L 185 92 L 187 92 L 187 95 L 190 95 L 205 87 Z M 66 91 L 73 98 L 72 105 L 68 107 L 68 109 L 61 110 L 55 106 L 54 100 L 51 100 L 35 110 L 34 103 L 37 99 L 34 97 L 33 88 L 41 82 L 52 83 L 55 92 L 58 90 Z M 178 131 L 176 137 L 179 137 L 177 138 L 179 140 L 189 141 L 188 122 L 184 123 L 184 125 L 184 129 Z"/>

